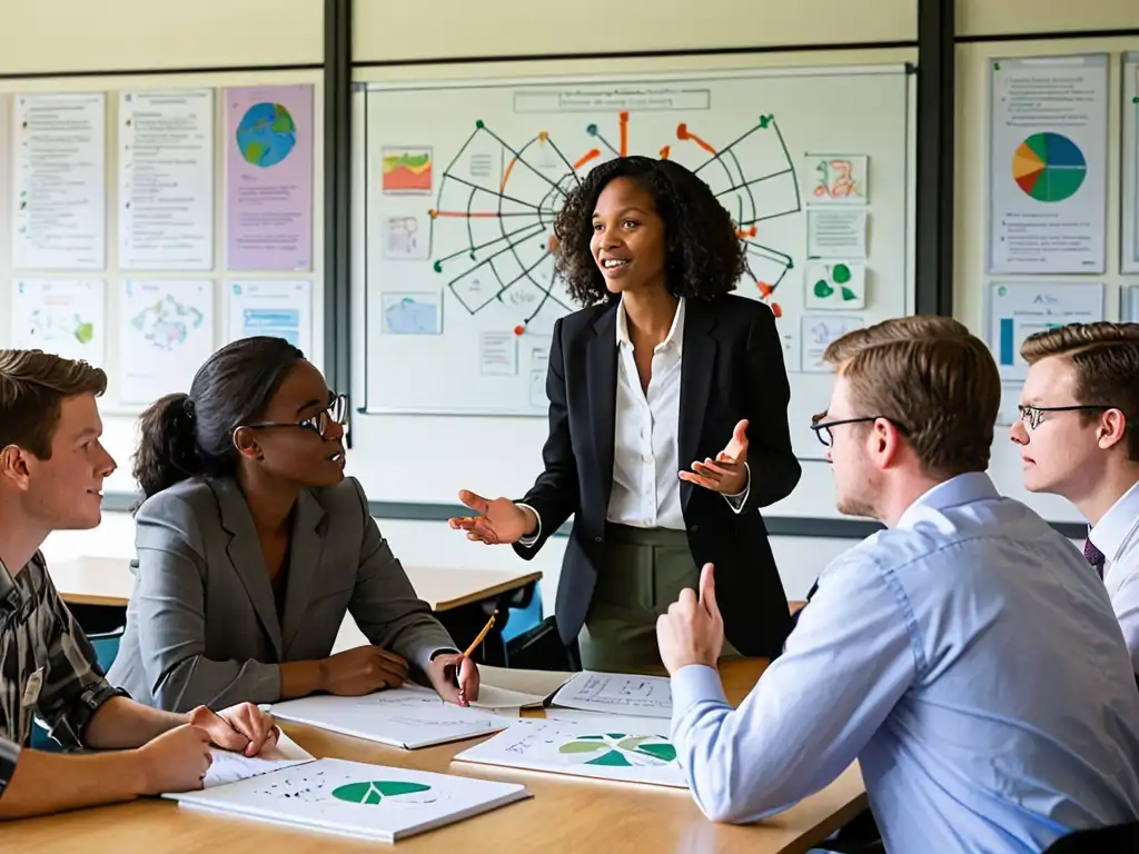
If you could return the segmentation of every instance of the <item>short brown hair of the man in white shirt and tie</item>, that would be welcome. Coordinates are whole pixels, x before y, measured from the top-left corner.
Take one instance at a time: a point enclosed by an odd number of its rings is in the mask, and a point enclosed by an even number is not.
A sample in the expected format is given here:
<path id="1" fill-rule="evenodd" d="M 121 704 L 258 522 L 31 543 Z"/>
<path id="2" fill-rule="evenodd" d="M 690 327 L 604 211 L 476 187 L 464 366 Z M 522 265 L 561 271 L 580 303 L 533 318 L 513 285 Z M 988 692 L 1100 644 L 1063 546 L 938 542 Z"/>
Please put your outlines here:
<path id="1" fill-rule="evenodd" d="M 1029 364 L 1060 356 L 1075 375 L 1074 403 L 1123 413 L 1128 459 L 1139 461 L 1139 323 L 1068 323 L 1034 332 L 1021 345 Z M 1087 424 L 1097 412 L 1081 412 Z"/>

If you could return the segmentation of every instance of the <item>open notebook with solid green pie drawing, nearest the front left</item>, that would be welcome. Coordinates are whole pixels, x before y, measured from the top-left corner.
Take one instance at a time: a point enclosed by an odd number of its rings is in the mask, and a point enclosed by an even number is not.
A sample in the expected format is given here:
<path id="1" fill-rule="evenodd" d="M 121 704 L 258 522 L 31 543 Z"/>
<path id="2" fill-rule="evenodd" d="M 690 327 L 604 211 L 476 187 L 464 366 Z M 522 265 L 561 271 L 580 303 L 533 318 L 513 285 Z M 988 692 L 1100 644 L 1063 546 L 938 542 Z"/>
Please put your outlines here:
<path id="1" fill-rule="evenodd" d="M 253 758 L 215 750 L 204 789 L 163 797 L 224 815 L 393 843 L 530 793 L 517 783 L 314 759 L 284 738 Z"/>

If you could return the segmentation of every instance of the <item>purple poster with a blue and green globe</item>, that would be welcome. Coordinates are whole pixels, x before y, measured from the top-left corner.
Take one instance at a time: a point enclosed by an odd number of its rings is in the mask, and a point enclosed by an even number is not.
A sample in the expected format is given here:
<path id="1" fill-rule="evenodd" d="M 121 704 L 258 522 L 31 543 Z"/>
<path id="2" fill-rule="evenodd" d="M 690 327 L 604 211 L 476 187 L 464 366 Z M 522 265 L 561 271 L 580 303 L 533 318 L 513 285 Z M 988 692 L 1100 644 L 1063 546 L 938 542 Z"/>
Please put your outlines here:
<path id="1" fill-rule="evenodd" d="M 226 264 L 312 269 L 313 88 L 227 89 Z"/>

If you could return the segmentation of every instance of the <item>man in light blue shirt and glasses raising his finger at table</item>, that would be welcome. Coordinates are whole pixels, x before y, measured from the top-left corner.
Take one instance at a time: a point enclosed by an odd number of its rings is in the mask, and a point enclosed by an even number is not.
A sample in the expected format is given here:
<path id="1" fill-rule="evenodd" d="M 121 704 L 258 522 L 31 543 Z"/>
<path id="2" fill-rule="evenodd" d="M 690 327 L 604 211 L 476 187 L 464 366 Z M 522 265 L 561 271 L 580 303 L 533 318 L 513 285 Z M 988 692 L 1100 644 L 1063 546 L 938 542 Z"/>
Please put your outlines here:
<path id="1" fill-rule="evenodd" d="M 831 344 L 813 428 L 838 509 L 883 522 L 834 560 L 734 711 L 714 668 L 713 569 L 657 634 L 672 737 L 716 821 L 751 822 L 859 761 L 887 851 L 1040 852 L 1139 818 L 1139 693 L 1103 583 L 984 474 L 1000 400 L 949 318 Z"/>

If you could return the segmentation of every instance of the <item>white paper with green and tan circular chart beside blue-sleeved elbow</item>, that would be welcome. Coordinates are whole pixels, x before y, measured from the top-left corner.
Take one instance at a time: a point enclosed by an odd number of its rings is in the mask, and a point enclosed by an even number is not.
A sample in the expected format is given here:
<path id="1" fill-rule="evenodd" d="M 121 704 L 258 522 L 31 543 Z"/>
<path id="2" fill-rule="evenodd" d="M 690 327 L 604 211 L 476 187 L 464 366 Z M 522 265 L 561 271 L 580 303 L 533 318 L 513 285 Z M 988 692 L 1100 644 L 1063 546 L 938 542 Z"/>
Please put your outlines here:
<path id="1" fill-rule="evenodd" d="M 669 741 L 667 722 L 625 726 L 598 716 L 587 723 L 518 721 L 514 726 L 458 754 L 458 762 L 547 771 L 601 780 L 687 788 Z"/>

